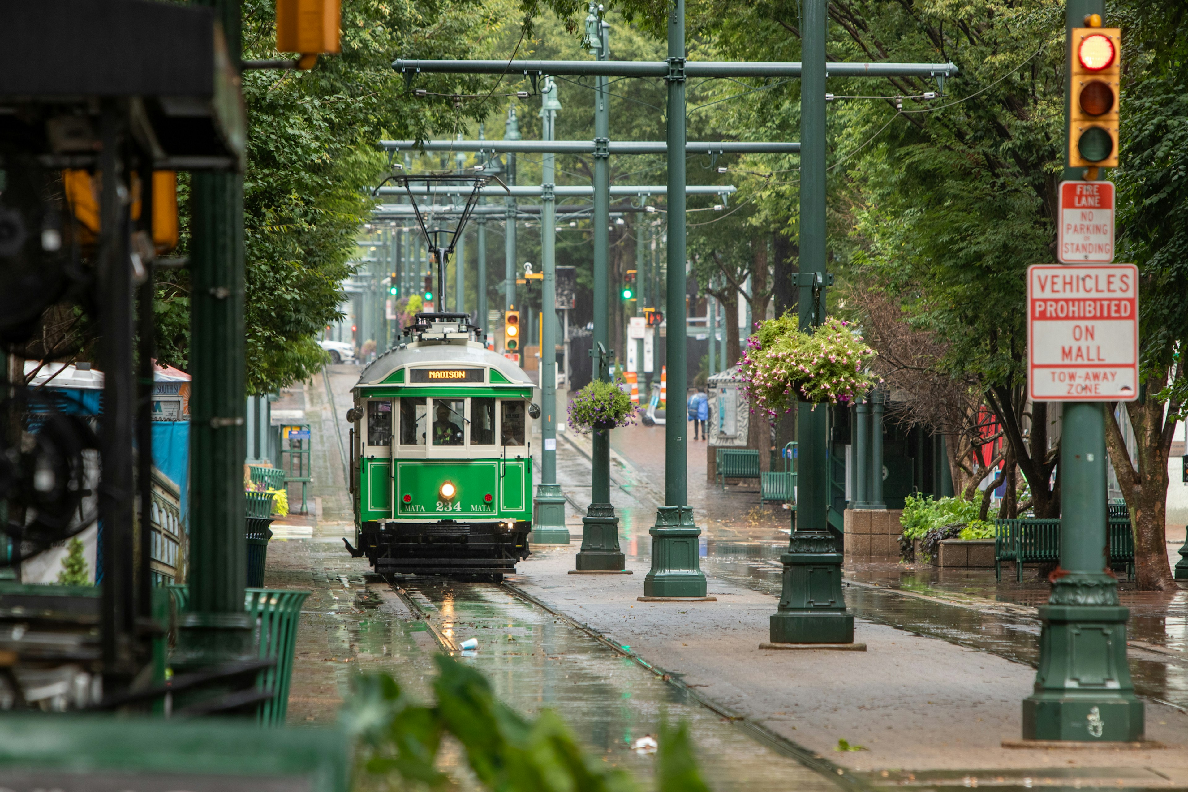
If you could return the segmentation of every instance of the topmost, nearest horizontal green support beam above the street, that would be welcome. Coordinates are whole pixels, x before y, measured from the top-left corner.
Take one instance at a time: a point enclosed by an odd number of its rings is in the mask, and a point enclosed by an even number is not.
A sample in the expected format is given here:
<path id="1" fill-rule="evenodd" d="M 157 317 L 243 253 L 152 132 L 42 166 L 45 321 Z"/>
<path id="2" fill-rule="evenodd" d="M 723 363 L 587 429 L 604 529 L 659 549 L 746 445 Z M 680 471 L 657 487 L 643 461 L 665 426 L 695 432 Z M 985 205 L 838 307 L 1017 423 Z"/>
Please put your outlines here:
<path id="1" fill-rule="evenodd" d="M 393 61 L 402 74 L 666 77 L 663 61 Z M 796 62 L 689 61 L 685 77 L 800 77 Z M 952 77 L 952 63 L 828 63 L 827 77 Z"/>

